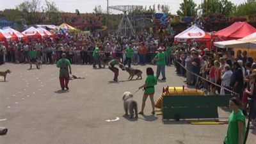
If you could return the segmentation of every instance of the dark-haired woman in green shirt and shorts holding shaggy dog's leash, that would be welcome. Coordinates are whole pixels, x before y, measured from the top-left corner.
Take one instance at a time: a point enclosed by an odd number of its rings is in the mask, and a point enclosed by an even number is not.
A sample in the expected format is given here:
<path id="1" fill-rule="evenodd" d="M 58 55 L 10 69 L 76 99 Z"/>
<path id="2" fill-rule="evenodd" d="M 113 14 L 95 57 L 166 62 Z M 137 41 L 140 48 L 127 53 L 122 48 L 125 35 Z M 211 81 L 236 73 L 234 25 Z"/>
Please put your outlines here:
<path id="1" fill-rule="evenodd" d="M 152 105 L 152 115 L 155 115 L 155 102 L 154 102 L 154 93 L 155 93 L 155 85 L 157 84 L 156 76 L 154 76 L 154 70 L 151 67 L 147 68 L 147 79 L 145 81 L 145 84 L 139 87 L 139 90 L 141 88 L 144 88 L 145 92 L 142 99 L 141 104 L 141 111 L 140 115 L 144 115 L 144 108 L 146 104 L 146 100 L 148 96 L 150 97 L 151 105 Z"/>

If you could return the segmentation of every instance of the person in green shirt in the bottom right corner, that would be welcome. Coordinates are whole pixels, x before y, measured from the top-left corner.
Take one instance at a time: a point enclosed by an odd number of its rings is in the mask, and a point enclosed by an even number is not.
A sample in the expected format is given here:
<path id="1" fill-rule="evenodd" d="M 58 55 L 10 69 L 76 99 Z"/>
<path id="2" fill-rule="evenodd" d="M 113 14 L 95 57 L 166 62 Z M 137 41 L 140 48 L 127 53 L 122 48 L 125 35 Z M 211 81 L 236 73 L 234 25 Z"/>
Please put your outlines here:
<path id="1" fill-rule="evenodd" d="M 228 117 L 228 129 L 224 144 L 243 144 L 244 142 L 245 116 L 239 109 L 239 105 L 239 98 L 233 97 L 229 100 L 229 108 L 232 109 L 232 113 Z"/>

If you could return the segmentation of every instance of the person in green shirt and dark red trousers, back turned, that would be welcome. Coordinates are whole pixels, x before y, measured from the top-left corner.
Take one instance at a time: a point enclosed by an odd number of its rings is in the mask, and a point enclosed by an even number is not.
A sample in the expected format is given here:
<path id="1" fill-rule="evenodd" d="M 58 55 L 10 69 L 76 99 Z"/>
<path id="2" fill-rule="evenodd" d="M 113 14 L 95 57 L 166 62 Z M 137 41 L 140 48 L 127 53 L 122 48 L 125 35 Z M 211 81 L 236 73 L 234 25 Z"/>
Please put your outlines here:
<path id="1" fill-rule="evenodd" d="M 60 86 L 61 90 L 64 90 L 64 88 L 68 88 L 68 81 L 69 81 L 69 74 L 72 74 L 71 72 L 71 66 L 69 60 L 66 59 L 66 54 L 61 54 L 61 59 L 57 62 L 57 67 L 60 68 Z M 69 68 L 69 74 L 68 74 L 68 68 Z"/>

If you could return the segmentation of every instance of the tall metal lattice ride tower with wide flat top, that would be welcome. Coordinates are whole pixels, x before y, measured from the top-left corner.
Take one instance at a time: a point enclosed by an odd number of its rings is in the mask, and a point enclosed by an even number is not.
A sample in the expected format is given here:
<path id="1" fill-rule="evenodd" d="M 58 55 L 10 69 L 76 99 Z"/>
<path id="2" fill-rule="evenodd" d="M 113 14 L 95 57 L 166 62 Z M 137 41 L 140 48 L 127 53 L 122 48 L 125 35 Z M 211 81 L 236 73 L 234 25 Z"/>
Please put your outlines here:
<path id="1" fill-rule="evenodd" d="M 113 10 L 118 10 L 123 12 L 123 17 L 118 24 L 117 35 L 135 35 L 135 31 L 132 28 L 131 20 L 129 19 L 127 12 L 131 12 L 133 10 L 140 10 L 143 6 L 109 6 Z"/>

